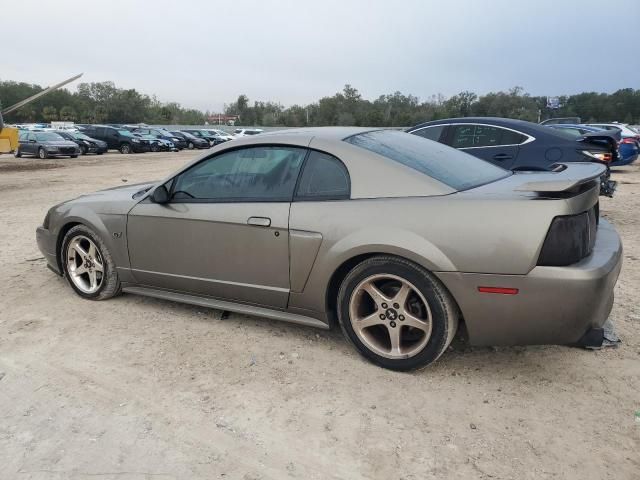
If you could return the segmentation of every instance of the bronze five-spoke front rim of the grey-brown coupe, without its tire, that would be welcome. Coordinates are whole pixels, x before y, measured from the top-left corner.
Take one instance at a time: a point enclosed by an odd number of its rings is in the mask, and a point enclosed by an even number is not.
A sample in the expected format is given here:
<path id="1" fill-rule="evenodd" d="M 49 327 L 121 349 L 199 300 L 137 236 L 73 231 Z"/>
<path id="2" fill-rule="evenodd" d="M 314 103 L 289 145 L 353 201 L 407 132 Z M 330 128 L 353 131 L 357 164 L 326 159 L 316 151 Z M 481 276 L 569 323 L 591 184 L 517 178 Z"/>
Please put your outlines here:
<path id="1" fill-rule="evenodd" d="M 73 284 L 83 293 L 95 293 L 104 280 L 104 260 L 89 237 L 73 237 L 67 246 L 67 271 Z"/>

